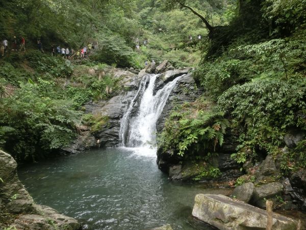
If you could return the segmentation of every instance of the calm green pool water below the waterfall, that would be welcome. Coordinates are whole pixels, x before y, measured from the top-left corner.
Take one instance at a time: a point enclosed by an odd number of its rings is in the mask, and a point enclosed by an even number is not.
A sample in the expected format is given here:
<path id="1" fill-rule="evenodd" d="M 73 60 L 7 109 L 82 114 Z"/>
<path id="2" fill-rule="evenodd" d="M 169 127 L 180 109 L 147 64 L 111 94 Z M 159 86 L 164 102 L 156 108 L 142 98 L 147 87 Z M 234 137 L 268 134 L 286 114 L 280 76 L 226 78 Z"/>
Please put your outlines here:
<path id="1" fill-rule="evenodd" d="M 34 200 L 74 217 L 85 229 L 212 229 L 191 218 L 198 193 L 224 194 L 198 183 L 170 181 L 156 151 L 109 148 L 63 156 L 18 170 Z"/>

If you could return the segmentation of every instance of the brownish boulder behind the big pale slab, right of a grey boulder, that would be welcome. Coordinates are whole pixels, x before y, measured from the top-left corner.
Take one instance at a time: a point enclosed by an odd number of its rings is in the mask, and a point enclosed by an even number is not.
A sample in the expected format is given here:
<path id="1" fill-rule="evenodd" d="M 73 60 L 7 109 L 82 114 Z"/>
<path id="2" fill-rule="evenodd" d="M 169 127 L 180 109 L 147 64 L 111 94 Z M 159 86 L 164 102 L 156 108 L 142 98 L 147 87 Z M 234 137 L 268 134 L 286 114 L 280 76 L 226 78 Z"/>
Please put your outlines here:
<path id="1" fill-rule="evenodd" d="M 256 187 L 253 192 L 252 203 L 260 208 L 266 208 L 266 199 L 271 198 L 275 201 L 276 195 L 281 195 L 284 186 L 280 182 L 267 183 Z"/>

